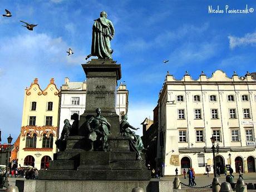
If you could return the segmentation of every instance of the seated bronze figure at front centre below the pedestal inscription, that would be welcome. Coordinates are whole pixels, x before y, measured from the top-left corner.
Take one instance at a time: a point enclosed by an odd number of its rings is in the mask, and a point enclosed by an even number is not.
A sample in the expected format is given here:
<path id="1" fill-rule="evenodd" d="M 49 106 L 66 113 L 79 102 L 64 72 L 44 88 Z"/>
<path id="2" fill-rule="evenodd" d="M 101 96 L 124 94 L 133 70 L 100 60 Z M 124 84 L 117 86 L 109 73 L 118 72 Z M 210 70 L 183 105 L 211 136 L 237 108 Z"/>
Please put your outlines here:
<path id="1" fill-rule="evenodd" d="M 96 116 L 92 116 L 87 122 L 86 127 L 89 132 L 89 139 L 90 137 L 94 137 L 93 140 L 96 140 L 100 142 L 100 147 L 94 150 L 102 150 L 107 151 L 109 150 L 109 146 L 107 144 L 107 137 L 111 135 L 110 129 L 111 125 L 107 121 L 107 119 L 104 116 L 101 116 L 101 109 L 96 109 Z M 95 135 L 95 136 L 93 136 Z"/>

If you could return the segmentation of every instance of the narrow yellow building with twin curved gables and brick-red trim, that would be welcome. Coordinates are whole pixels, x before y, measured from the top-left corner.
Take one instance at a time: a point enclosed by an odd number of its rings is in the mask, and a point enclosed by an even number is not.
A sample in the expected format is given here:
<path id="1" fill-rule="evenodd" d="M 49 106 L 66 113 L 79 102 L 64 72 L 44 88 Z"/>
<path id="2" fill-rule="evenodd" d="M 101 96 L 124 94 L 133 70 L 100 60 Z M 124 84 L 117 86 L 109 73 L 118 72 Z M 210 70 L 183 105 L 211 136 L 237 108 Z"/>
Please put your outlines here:
<path id="1" fill-rule="evenodd" d="M 60 91 L 54 79 L 42 90 L 35 78 L 25 89 L 18 164 L 47 169 L 57 152 L 58 106 Z"/>

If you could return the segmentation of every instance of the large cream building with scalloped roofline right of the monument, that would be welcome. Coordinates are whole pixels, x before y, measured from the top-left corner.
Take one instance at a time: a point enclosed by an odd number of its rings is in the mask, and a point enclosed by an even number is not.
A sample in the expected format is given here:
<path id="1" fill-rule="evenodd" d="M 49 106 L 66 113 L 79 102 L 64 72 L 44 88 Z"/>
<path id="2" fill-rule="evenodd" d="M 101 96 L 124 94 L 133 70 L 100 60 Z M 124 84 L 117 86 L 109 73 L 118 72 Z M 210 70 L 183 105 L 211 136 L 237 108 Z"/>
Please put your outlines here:
<path id="1" fill-rule="evenodd" d="M 230 164 L 234 171 L 241 166 L 244 173 L 255 172 L 256 81 L 249 73 L 229 78 L 218 70 L 208 78 L 202 72 L 198 80 L 168 74 L 158 106 L 157 163 L 163 175 L 192 167 L 196 174 L 207 167 L 213 173 L 212 135 L 221 172 Z"/>

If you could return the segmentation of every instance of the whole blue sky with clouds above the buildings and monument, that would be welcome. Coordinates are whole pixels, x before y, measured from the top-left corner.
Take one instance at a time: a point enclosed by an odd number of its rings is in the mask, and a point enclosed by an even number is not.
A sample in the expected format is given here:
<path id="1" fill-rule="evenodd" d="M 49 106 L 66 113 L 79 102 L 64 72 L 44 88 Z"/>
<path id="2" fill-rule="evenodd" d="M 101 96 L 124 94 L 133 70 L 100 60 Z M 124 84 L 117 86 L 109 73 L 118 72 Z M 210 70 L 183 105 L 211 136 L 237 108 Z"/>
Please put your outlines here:
<path id="1" fill-rule="evenodd" d="M 248 14 L 230 9 L 255 9 Z M 224 9 L 224 13 L 209 13 Z M 91 49 L 93 19 L 101 11 L 115 26 L 113 59 L 121 63 L 122 80 L 129 89 L 129 122 L 141 127 L 152 118 L 166 72 L 182 78 L 185 71 L 197 79 L 223 70 L 228 76 L 256 71 L 256 2 L 254 0 L 69 1 L 1 0 L 0 12 L 0 129 L 16 140 L 22 118 L 24 88 L 38 77 L 42 88 L 51 77 L 60 87 L 65 77 L 85 80 L 81 63 Z M 19 20 L 38 24 L 34 31 Z M 71 47 L 75 52 L 67 57 Z M 164 64 L 162 61 L 169 60 Z M 138 132 L 141 134 L 141 131 Z"/>

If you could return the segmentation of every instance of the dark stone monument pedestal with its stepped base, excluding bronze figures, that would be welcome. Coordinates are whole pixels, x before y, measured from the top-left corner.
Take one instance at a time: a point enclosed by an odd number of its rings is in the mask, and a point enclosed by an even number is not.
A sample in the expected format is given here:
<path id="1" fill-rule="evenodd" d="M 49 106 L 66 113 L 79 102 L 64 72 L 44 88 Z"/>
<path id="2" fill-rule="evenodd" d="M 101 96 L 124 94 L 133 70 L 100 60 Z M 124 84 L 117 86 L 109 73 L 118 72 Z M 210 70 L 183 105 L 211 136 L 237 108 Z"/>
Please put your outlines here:
<path id="1" fill-rule="evenodd" d="M 137 160 L 136 152 L 129 149 L 129 137 L 120 134 L 115 101 L 121 66 L 112 60 L 94 59 L 82 67 L 87 79 L 86 109 L 80 116 L 78 135 L 68 136 L 66 150 L 55 154 L 49 169 L 40 171 L 39 179 L 54 180 L 56 183 L 72 180 L 68 181 L 70 185 L 86 180 L 99 181 L 100 184 L 102 181 L 150 180 L 151 173 L 145 161 Z M 97 107 L 101 108 L 101 115 L 111 124 L 112 135 L 108 137 L 111 151 L 93 150 L 91 140 L 86 137 L 86 121 L 96 115 Z"/>

